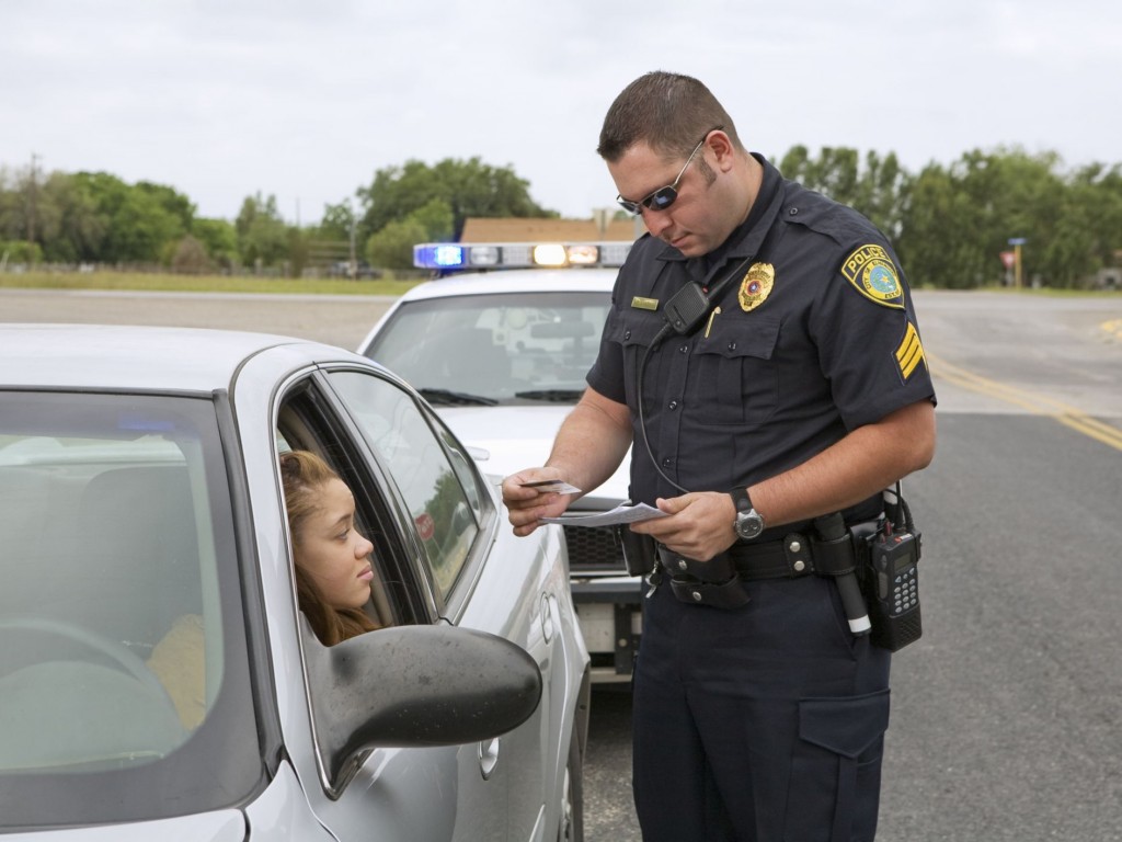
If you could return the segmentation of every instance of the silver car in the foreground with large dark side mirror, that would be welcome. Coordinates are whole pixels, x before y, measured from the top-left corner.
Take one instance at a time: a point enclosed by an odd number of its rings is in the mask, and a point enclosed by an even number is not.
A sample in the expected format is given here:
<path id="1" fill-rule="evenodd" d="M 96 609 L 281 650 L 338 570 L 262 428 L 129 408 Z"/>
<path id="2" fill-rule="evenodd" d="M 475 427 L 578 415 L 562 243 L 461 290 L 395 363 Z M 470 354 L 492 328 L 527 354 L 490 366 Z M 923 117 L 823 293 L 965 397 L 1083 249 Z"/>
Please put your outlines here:
<path id="1" fill-rule="evenodd" d="M 289 448 L 375 547 L 383 628 L 330 648 L 297 607 Z M 580 839 L 565 544 L 514 538 L 496 482 L 349 351 L 0 326 L 0 834 Z"/>

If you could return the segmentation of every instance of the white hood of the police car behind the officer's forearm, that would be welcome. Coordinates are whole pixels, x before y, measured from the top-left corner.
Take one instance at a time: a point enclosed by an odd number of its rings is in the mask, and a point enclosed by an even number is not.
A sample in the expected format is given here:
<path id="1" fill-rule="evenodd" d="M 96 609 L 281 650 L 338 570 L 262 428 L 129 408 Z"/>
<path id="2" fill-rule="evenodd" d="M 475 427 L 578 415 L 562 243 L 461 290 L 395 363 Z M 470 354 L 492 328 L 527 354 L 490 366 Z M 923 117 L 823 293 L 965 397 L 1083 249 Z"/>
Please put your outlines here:
<path id="1" fill-rule="evenodd" d="M 505 477 L 541 466 L 571 405 L 440 406 L 438 413 L 487 474 Z M 611 509 L 627 498 L 629 458 L 599 488 L 586 489 L 576 509 Z"/>

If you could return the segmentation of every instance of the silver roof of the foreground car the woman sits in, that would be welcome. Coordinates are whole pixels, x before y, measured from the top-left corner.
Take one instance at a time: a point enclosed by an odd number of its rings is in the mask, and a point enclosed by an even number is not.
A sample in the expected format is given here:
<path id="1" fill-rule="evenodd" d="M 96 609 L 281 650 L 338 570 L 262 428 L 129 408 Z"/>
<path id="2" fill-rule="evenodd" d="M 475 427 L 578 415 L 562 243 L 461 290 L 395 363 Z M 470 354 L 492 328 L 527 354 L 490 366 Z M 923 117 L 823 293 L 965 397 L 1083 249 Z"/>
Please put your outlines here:
<path id="1" fill-rule="evenodd" d="M 292 337 L 205 328 L 0 324 L 0 388 L 227 388 L 247 359 L 288 347 L 306 363 L 370 360 Z"/>

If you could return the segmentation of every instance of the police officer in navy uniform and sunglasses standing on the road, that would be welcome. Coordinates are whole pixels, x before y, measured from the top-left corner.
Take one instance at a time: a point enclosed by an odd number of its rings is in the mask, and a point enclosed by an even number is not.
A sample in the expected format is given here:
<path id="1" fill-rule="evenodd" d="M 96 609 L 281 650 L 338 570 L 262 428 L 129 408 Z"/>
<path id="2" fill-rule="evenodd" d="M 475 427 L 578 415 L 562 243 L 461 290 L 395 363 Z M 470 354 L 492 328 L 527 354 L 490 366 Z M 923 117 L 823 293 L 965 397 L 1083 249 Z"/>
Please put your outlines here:
<path id="1" fill-rule="evenodd" d="M 666 515 L 632 527 L 659 557 L 634 675 L 645 840 L 872 840 L 890 655 L 850 633 L 810 539 L 829 513 L 875 520 L 934 455 L 899 263 L 689 76 L 629 84 L 598 152 L 649 235 L 546 466 L 503 483 L 514 531 L 572 500 L 524 483 L 595 488 L 634 446 L 632 498 Z"/>

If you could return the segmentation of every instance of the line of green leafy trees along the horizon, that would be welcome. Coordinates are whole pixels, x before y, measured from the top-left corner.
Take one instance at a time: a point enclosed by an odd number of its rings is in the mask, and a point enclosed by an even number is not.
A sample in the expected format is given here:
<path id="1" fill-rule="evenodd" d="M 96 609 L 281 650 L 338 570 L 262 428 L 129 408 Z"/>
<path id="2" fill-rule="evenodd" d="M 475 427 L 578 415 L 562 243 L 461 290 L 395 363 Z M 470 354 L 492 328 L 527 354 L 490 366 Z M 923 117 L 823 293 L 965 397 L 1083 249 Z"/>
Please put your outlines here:
<path id="1" fill-rule="evenodd" d="M 1026 281 L 1084 285 L 1122 266 L 1122 165 L 1073 171 L 1055 153 L 972 150 L 944 166 L 904 170 L 894 154 L 792 147 L 781 172 L 856 208 L 892 240 L 916 286 L 1001 283 L 1001 255 L 1022 239 Z M 620 211 L 622 212 L 622 211 Z M 175 189 L 108 173 L 0 167 L 4 264 L 162 266 L 186 273 L 300 276 L 366 260 L 408 268 L 415 242 L 454 240 L 470 217 L 558 217 L 511 167 L 478 157 L 410 161 L 324 208 L 312 226 L 286 222 L 274 195 L 247 196 L 234 220 L 199 217 Z"/>

